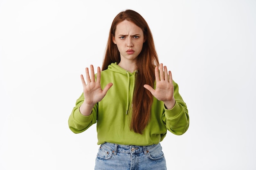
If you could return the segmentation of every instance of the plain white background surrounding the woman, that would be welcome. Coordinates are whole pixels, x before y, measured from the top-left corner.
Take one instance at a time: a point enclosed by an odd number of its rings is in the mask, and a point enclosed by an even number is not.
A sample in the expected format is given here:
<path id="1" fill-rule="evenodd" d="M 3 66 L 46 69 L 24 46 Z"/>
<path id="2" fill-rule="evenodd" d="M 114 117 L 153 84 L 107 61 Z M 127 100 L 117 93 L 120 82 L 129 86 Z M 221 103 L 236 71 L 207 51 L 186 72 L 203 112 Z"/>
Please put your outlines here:
<path id="1" fill-rule="evenodd" d="M 96 126 L 67 120 L 117 13 L 148 22 L 186 102 L 161 143 L 170 170 L 255 170 L 256 1 L 0 0 L 0 169 L 94 169 Z"/>

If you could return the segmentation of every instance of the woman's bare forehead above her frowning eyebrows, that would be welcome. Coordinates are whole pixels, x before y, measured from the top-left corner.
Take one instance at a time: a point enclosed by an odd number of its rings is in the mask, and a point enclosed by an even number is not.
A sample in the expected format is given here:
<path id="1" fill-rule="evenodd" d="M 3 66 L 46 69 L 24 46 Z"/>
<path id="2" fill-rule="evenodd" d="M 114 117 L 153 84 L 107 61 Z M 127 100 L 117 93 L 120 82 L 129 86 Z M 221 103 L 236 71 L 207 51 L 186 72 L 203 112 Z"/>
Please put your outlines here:
<path id="1" fill-rule="evenodd" d="M 116 32 L 117 35 L 129 35 L 129 34 L 143 34 L 142 29 L 130 22 L 128 20 L 124 20 L 117 24 Z"/>

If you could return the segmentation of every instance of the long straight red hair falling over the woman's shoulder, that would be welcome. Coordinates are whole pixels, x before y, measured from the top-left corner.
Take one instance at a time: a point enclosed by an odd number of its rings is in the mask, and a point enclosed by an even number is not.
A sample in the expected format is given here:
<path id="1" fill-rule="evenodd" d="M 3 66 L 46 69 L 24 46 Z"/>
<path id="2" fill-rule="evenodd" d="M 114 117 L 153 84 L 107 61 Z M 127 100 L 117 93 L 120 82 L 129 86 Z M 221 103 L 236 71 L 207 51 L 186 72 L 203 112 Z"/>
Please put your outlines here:
<path id="1" fill-rule="evenodd" d="M 152 33 L 146 20 L 144 20 L 139 13 L 132 10 L 126 10 L 120 12 L 114 18 L 109 32 L 102 70 L 108 69 L 108 65 L 111 63 L 119 63 L 121 60 L 120 52 L 117 49 L 117 45 L 112 41 L 112 38 L 115 37 L 117 24 L 124 20 L 133 22 L 139 26 L 142 29 L 144 39 L 146 40 L 143 44 L 141 53 L 137 57 L 138 73 L 136 76 L 135 90 L 132 99 L 132 118 L 130 122 L 130 129 L 142 134 L 150 119 L 150 108 L 153 103 L 153 95 L 150 91 L 144 88 L 144 84 L 148 84 L 152 87 L 154 86 L 155 66 L 159 66 L 159 61 L 155 51 Z"/>

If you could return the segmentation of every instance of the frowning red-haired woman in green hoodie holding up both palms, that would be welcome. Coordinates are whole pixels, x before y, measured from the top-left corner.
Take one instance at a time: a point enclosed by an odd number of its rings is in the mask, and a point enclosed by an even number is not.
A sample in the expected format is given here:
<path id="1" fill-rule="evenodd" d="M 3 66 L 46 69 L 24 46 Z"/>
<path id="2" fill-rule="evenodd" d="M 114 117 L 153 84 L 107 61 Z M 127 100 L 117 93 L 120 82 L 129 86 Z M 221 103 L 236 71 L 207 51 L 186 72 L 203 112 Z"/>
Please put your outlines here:
<path id="1" fill-rule="evenodd" d="M 85 75 L 87 84 L 81 75 L 83 94 L 68 123 L 74 133 L 97 123 L 101 146 L 95 170 L 165 170 L 160 141 L 167 130 L 186 132 L 189 115 L 139 13 L 126 10 L 115 17 L 102 71 L 98 67 L 95 77 L 91 65 Z"/>

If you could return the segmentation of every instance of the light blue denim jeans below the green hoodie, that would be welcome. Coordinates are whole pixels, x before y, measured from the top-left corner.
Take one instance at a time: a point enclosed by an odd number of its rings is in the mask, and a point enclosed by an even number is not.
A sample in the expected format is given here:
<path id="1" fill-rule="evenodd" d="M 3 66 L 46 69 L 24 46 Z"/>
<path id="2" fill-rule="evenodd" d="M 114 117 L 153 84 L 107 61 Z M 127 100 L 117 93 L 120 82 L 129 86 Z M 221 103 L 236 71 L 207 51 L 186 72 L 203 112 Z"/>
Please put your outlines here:
<path id="1" fill-rule="evenodd" d="M 166 170 L 162 146 L 118 145 L 104 143 L 99 147 L 95 170 Z"/>

